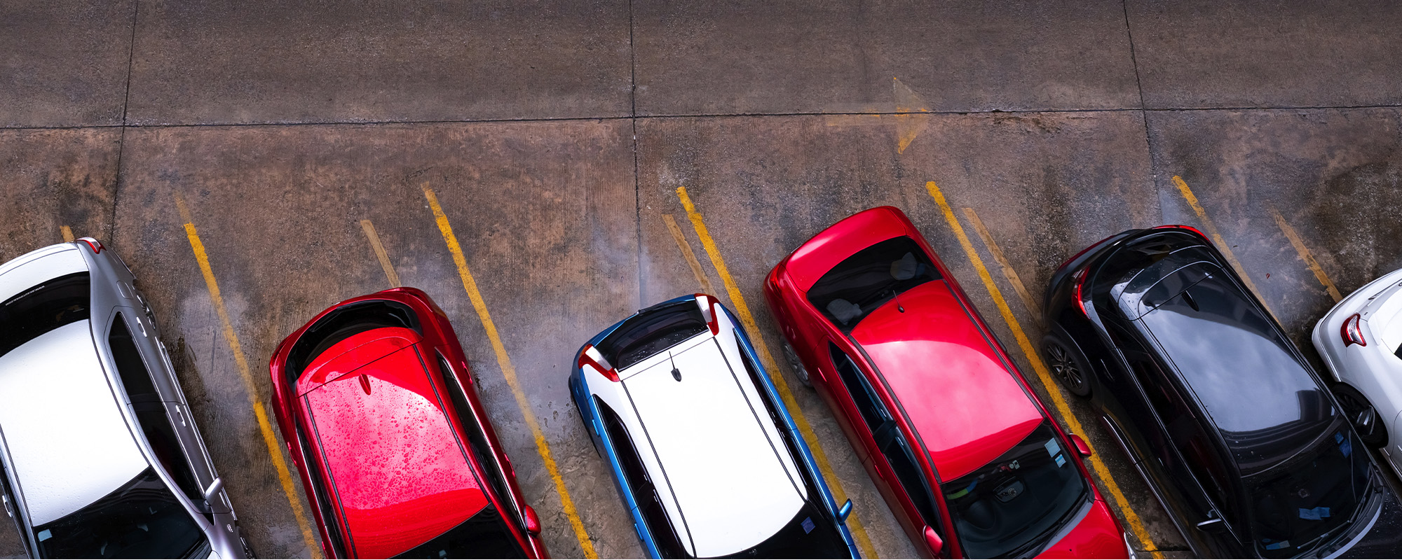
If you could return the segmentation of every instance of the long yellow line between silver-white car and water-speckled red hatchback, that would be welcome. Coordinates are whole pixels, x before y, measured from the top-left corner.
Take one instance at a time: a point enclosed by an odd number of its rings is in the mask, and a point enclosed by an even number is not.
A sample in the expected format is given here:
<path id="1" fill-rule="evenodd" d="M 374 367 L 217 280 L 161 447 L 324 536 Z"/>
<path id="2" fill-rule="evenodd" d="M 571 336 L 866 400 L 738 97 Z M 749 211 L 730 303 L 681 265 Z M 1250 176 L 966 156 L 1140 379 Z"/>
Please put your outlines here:
<path id="1" fill-rule="evenodd" d="M 307 550 L 311 552 L 311 557 L 320 559 L 321 546 L 317 545 L 317 538 L 311 532 L 307 514 L 301 511 L 301 501 L 297 500 L 297 490 L 292 484 L 292 473 L 287 470 L 287 462 L 282 458 L 282 447 L 278 445 L 278 435 L 273 434 L 272 424 L 268 423 L 268 410 L 264 409 L 262 400 L 258 400 L 258 385 L 254 384 L 254 375 L 248 368 L 248 357 L 244 356 L 244 347 L 238 344 L 238 336 L 234 335 L 234 323 L 229 321 L 229 309 L 224 308 L 224 298 L 219 293 L 219 283 L 215 281 L 215 269 L 209 265 L 205 244 L 199 241 L 199 234 L 195 232 L 195 221 L 189 216 L 189 209 L 185 207 L 185 199 L 179 195 L 175 195 L 175 207 L 185 223 L 185 237 L 189 238 L 189 248 L 195 252 L 195 260 L 199 262 L 199 272 L 205 276 L 205 286 L 209 288 L 209 298 L 215 302 L 215 312 L 219 314 L 224 342 L 229 343 L 229 349 L 234 353 L 234 364 L 238 365 L 238 375 L 244 381 L 244 392 L 248 393 L 248 403 L 254 409 L 254 417 L 258 419 L 258 431 L 262 433 L 264 444 L 268 445 L 268 455 L 272 456 L 272 465 L 278 469 L 278 480 L 282 483 L 282 491 L 287 494 L 287 504 L 292 505 L 292 515 L 297 518 L 297 526 L 301 528 L 301 538 L 307 543 Z"/>

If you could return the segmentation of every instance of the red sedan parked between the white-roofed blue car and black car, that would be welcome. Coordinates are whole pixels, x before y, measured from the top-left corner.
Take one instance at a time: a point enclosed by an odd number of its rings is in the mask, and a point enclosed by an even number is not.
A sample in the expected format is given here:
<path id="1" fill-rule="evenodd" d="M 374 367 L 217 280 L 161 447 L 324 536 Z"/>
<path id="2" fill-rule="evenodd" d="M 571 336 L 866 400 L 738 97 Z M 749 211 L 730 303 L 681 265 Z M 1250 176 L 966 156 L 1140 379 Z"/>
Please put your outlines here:
<path id="1" fill-rule="evenodd" d="M 1067 437 L 900 210 L 817 234 L 770 272 L 799 378 L 836 412 L 930 556 L 1124 557 Z"/>

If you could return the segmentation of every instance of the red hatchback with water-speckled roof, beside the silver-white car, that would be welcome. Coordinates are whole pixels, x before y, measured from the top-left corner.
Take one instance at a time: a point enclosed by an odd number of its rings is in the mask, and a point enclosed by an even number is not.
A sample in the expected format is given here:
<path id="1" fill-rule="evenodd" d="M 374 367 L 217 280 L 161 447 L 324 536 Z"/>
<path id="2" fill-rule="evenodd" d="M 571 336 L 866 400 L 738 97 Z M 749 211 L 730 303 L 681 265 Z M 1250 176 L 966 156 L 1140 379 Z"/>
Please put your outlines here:
<path id="1" fill-rule="evenodd" d="M 540 519 L 428 294 L 342 301 L 269 364 L 328 557 L 544 557 Z"/>

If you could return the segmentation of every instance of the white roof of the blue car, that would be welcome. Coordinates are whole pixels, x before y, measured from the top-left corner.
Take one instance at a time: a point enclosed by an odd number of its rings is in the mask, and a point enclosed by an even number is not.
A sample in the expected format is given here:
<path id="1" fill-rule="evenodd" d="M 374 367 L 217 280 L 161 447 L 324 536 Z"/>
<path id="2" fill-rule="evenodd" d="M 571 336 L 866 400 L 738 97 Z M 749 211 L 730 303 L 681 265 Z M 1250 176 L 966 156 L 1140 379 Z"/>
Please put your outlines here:
<path id="1" fill-rule="evenodd" d="M 728 336 L 697 335 L 620 372 L 646 433 L 646 441 L 632 433 L 635 447 L 681 542 L 688 549 L 694 543 L 697 557 L 758 545 L 784 528 L 806 497 L 735 336 L 721 332 Z M 656 461 L 646 456 L 649 449 Z"/>

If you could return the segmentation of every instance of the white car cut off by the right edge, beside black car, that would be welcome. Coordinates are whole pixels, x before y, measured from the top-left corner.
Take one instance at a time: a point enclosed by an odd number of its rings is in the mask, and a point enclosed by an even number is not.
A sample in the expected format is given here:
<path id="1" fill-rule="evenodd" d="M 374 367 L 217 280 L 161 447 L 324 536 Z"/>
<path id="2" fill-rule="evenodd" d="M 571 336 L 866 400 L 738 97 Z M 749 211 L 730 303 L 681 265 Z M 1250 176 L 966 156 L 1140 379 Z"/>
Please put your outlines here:
<path id="1" fill-rule="evenodd" d="M 1343 298 L 1311 339 L 1359 437 L 1402 473 L 1402 270 Z"/>

